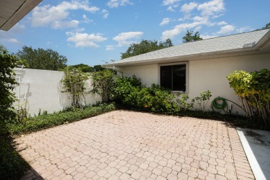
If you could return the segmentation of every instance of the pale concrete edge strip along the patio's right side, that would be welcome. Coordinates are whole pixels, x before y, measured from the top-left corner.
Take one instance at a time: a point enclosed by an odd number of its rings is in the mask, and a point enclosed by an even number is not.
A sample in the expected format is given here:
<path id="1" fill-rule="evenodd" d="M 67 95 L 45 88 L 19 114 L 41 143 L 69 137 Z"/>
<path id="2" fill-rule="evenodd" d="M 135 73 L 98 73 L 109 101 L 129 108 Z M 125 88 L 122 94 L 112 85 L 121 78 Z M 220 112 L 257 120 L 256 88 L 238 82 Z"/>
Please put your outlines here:
<path id="1" fill-rule="evenodd" d="M 244 132 L 242 132 L 241 128 L 237 128 L 236 131 L 244 148 L 244 152 L 246 153 L 246 157 L 249 160 L 249 164 L 251 165 L 251 170 L 253 171 L 255 179 L 267 180 L 255 155 L 253 154 L 253 151 L 251 150 L 249 142 L 246 140 L 246 136 L 244 136 Z"/>

